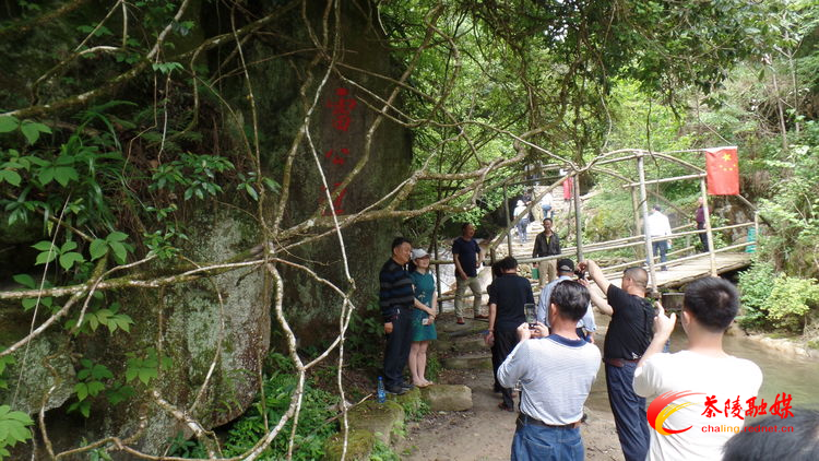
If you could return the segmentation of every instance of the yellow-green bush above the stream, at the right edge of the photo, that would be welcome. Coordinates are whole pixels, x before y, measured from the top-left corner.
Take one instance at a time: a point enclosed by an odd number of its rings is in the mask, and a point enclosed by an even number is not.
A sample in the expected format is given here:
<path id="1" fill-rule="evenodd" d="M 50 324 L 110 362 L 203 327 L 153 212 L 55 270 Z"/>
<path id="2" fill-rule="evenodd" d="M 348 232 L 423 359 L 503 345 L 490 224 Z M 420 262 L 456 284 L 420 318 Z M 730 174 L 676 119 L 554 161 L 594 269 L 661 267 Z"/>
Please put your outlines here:
<path id="1" fill-rule="evenodd" d="M 768 311 L 768 318 L 774 326 L 800 332 L 806 316 L 818 305 L 819 285 L 816 280 L 779 276 L 762 308 Z"/>

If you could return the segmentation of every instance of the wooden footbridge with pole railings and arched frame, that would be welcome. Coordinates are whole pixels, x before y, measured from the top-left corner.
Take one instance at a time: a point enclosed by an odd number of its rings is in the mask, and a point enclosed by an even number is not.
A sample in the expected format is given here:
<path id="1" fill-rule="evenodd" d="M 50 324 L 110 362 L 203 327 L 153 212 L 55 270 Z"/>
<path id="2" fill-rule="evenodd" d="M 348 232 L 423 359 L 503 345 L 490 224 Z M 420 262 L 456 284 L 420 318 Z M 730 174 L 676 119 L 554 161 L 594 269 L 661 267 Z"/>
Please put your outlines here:
<path id="1" fill-rule="evenodd" d="M 686 151 L 690 152 L 690 151 Z M 614 154 L 614 155 L 612 155 Z M 625 154 L 625 155 L 624 155 Z M 589 165 L 582 169 L 578 169 L 573 166 L 568 165 L 561 165 L 559 167 L 569 167 L 569 169 L 574 169 L 573 172 L 569 172 L 566 176 L 562 176 L 560 179 L 551 184 L 550 186 L 536 186 L 533 187 L 533 189 L 536 191 L 534 193 L 533 200 L 531 201 L 531 204 L 529 205 L 529 211 L 534 211 L 535 217 L 538 217 L 538 209 L 539 209 L 539 200 L 543 196 L 546 194 L 549 190 L 559 190 L 558 187 L 568 178 L 570 177 L 577 177 L 582 170 L 593 170 L 597 173 L 607 174 L 610 176 L 614 176 L 624 182 L 624 188 L 628 188 L 631 191 L 632 197 L 632 212 L 634 217 L 634 225 L 633 228 L 630 230 L 632 232 L 632 237 L 625 237 L 625 238 L 618 238 L 614 240 L 608 241 L 601 241 L 601 243 L 593 243 L 593 244 L 581 244 L 575 245 L 574 247 L 566 247 L 562 248 L 562 255 L 559 256 L 551 256 L 546 258 L 531 258 L 532 256 L 532 246 L 534 244 L 534 239 L 536 235 L 543 230 L 543 227 L 541 226 L 539 222 L 531 223 L 527 226 L 527 233 L 529 233 L 529 241 L 526 244 L 521 244 L 519 241 L 518 237 L 513 237 L 513 229 L 515 229 L 517 224 L 521 221 L 521 218 L 524 216 L 524 214 L 511 216 L 507 220 L 507 226 L 506 229 L 498 236 L 496 236 L 491 241 L 487 241 L 487 251 L 491 260 L 497 260 L 499 258 L 502 258 L 506 255 L 512 255 L 518 259 L 519 263 L 521 264 L 529 264 L 530 267 L 537 267 L 537 263 L 539 261 L 549 260 L 549 259 L 560 259 L 560 258 L 570 258 L 574 261 L 583 260 L 583 259 L 595 259 L 594 253 L 601 253 L 601 252 L 608 252 L 610 255 L 612 250 L 621 250 L 625 248 L 633 248 L 634 252 L 634 259 L 629 261 L 624 261 L 622 259 L 617 261 L 598 261 L 601 262 L 601 268 L 603 269 L 604 273 L 608 277 L 609 281 L 613 283 L 616 283 L 619 285 L 620 275 L 622 273 L 624 269 L 634 267 L 634 265 L 645 265 L 646 271 L 650 274 L 650 289 L 663 289 L 663 288 L 677 288 L 680 287 L 687 283 L 690 283 L 697 279 L 708 276 L 708 275 L 719 275 L 726 272 L 736 271 L 743 268 L 746 268 L 750 265 L 750 252 L 746 252 L 746 248 L 752 247 L 756 241 L 756 238 L 737 238 L 737 239 L 729 239 L 733 240 L 733 244 L 729 244 L 727 246 L 724 246 L 722 248 L 715 248 L 714 247 L 714 236 L 716 234 L 722 233 L 724 236 L 727 236 L 731 233 L 736 233 L 736 230 L 740 230 L 740 234 L 746 234 L 745 230 L 748 230 L 746 235 L 759 235 L 759 223 L 756 215 L 756 212 L 753 213 L 753 220 L 743 223 L 734 223 L 726 226 L 721 227 L 712 227 L 711 225 L 711 217 L 710 217 L 710 210 L 708 209 L 708 192 L 707 192 L 707 185 L 705 185 L 705 173 L 702 168 L 695 166 L 692 164 L 689 164 L 687 162 L 682 162 L 678 158 L 675 158 L 673 153 L 656 153 L 656 152 L 648 152 L 648 151 L 639 151 L 639 150 L 630 150 L 630 151 L 617 151 L 614 153 L 609 153 L 604 155 L 601 158 L 605 158 L 602 162 L 597 162 L 596 165 Z M 621 155 L 621 156 L 619 156 Z M 613 158 L 613 156 L 619 156 Z M 654 158 L 655 161 L 667 161 L 669 163 L 675 163 L 677 165 L 682 165 L 684 167 L 691 170 L 693 174 L 687 175 L 687 176 L 678 176 L 674 178 L 655 178 L 655 179 L 645 179 L 644 168 L 643 168 L 643 159 L 644 158 Z M 619 162 L 628 162 L 628 161 L 637 161 L 637 173 L 638 178 L 637 180 L 633 180 L 631 178 L 625 177 L 621 174 L 614 173 L 612 170 L 608 170 L 606 168 L 602 168 L 601 166 L 604 164 L 610 164 L 610 163 L 619 163 Z M 550 166 L 544 169 L 555 169 L 558 166 Z M 646 185 L 650 184 L 660 184 L 660 182 L 668 182 L 668 181 L 676 181 L 676 180 L 699 180 L 700 181 L 700 190 L 702 194 L 702 199 L 705 203 L 705 228 L 698 230 L 695 228 L 693 223 L 681 225 L 678 227 L 675 227 L 672 229 L 672 235 L 664 236 L 662 239 L 670 239 L 674 241 L 674 250 L 669 250 L 667 253 L 668 261 L 667 261 L 667 271 L 663 271 L 660 268 L 660 263 L 657 261 L 658 258 L 654 257 L 652 255 L 652 239 L 650 237 L 646 237 L 648 228 L 645 225 L 645 222 L 648 220 L 648 196 L 653 196 L 654 200 L 665 202 L 667 206 L 670 209 L 676 210 L 678 213 L 682 213 L 682 210 L 679 210 L 677 206 L 675 206 L 673 203 L 665 200 L 665 198 L 661 197 L 656 192 L 652 192 L 646 189 Z M 533 180 L 526 180 L 526 181 L 519 181 L 517 184 L 524 184 L 524 182 L 531 182 Z M 577 181 L 575 181 L 577 184 Z M 512 185 L 510 182 L 510 185 Z M 541 189 L 538 192 L 537 189 Z M 559 199 L 556 200 L 557 203 L 555 203 L 555 211 L 557 211 L 557 216 L 555 218 L 555 224 L 557 225 L 556 232 L 566 240 L 570 243 L 577 244 L 577 235 L 582 235 L 582 220 L 579 216 L 582 216 L 582 198 L 580 197 L 578 192 L 578 188 L 573 187 L 573 197 L 572 200 L 569 202 L 562 202 Z M 505 196 L 506 196 L 506 186 L 505 186 Z M 744 201 L 747 205 L 750 206 L 750 209 L 753 209 L 753 206 L 745 200 L 741 196 L 736 196 L 740 201 Z M 508 203 L 508 200 L 505 200 L 505 203 Z M 682 214 L 685 215 L 685 214 Z M 508 213 L 507 210 L 507 216 L 510 216 L 510 213 Z M 691 216 L 692 217 L 692 216 Z M 688 220 L 686 220 L 688 221 Z M 562 227 L 562 228 L 561 228 Z M 692 245 L 693 240 L 699 240 L 699 234 L 705 233 L 708 236 L 708 248 L 705 252 L 698 252 L 698 250 Z M 572 236 L 573 234 L 573 236 Z M 570 238 L 567 238 L 570 237 Z M 572 241 L 574 240 L 574 241 Z M 503 245 L 506 244 L 506 245 Z M 437 255 L 437 248 L 435 248 L 435 252 Z M 650 262 L 645 264 L 645 255 L 649 255 Z M 436 270 L 441 270 L 441 267 L 446 267 L 448 264 L 452 264 L 453 261 L 447 261 L 447 260 L 434 260 L 432 263 L 436 265 Z M 438 276 L 438 280 L 440 282 L 441 276 Z M 488 273 L 488 268 L 485 268 L 482 274 L 482 285 L 486 286 L 490 282 L 491 276 Z M 536 281 L 533 281 L 533 283 L 536 285 Z M 454 286 L 453 286 L 454 287 Z M 441 302 L 446 302 L 449 299 L 452 299 L 453 296 L 447 296 L 449 293 L 449 287 L 447 286 L 439 286 L 439 299 Z M 537 291 L 537 287 L 535 287 L 535 291 Z"/>

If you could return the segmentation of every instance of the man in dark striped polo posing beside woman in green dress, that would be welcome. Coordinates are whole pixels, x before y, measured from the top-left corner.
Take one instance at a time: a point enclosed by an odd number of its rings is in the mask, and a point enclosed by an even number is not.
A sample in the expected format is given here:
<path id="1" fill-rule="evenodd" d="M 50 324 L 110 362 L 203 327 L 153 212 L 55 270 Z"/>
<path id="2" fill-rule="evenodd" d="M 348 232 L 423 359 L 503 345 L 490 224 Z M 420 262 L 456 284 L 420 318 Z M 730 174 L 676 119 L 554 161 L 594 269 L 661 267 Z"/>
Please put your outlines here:
<path id="1" fill-rule="evenodd" d="M 392 258 L 384 262 L 379 273 L 381 288 L 378 297 L 387 334 L 384 388 L 395 394 L 412 389 L 412 385 L 404 382 L 404 367 L 413 339 L 412 309 L 415 293 L 413 281 L 406 271 L 412 249 L 410 240 L 395 237 L 392 240 Z"/>

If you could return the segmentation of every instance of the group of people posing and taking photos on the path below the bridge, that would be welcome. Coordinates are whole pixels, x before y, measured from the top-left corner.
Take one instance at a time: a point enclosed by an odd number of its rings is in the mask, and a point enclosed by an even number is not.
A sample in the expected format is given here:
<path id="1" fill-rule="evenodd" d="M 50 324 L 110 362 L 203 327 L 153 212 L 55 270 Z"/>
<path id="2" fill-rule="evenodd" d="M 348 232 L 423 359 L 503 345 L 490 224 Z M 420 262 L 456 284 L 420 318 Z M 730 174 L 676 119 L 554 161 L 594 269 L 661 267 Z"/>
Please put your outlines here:
<path id="1" fill-rule="evenodd" d="M 550 224 L 548 217 L 544 218 L 547 223 Z M 475 317 L 483 317 L 477 270 L 484 255 L 474 234 L 474 226 L 464 224 L 452 249 L 458 323 L 464 321 L 466 287 L 473 293 Z M 557 235 L 544 225 L 533 256 L 559 255 L 559 248 Z M 549 269 L 543 272 L 553 279 Z M 515 390 L 520 392 L 512 460 L 584 458 L 580 434 L 583 405 L 601 362 L 627 461 L 722 459 L 733 433 L 699 428 L 735 425 L 737 421 L 727 403 L 721 401 L 724 412 L 715 415 L 701 413 L 701 404 L 707 395 L 752 401 L 762 382 L 756 364 L 731 356 L 722 347 L 723 334 L 739 307 L 736 288 L 719 277 L 701 279 L 687 286 L 679 323 L 688 336 L 688 348 L 672 354 L 668 343 L 677 316 L 666 316 L 660 303 L 646 298 L 649 274 L 643 268 L 625 270 L 619 286 L 610 283 L 593 260 L 575 267 L 571 259 L 559 259 L 553 272 L 554 280 L 542 286 L 535 302 L 532 283 L 519 275 L 518 261 L 506 257 L 492 265 L 494 280 L 487 287 L 485 341 L 491 347 L 494 391 L 501 397 L 498 407 L 515 412 Z M 589 279 L 603 296 L 590 289 Z M 401 394 L 413 386 L 429 386 L 431 382 L 425 378 L 426 351 L 429 341 L 436 339 L 439 312 L 429 255 L 423 249 L 413 250 L 407 239 L 396 238 L 392 257 L 381 270 L 380 284 L 387 333 L 387 391 Z M 537 306 L 535 319 L 526 318 L 526 304 Z M 593 306 L 610 317 L 602 351 L 594 343 Z M 403 378 L 407 364 L 412 383 Z M 674 404 L 678 411 L 666 415 L 660 427 L 651 428 L 646 403 L 669 392 L 676 392 Z M 695 429 L 662 434 L 664 427 Z M 736 444 L 733 446 L 738 449 Z"/>

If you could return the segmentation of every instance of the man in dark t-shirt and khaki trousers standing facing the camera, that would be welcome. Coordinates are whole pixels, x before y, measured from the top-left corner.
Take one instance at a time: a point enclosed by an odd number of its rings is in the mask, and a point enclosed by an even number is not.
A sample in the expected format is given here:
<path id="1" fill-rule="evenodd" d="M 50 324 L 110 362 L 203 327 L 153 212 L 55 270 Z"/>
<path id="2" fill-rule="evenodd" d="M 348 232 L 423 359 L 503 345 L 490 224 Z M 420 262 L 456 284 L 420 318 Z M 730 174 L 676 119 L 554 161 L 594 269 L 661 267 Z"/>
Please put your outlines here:
<path id="1" fill-rule="evenodd" d="M 466 287 L 472 291 L 472 309 L 476 319 L 485 319 L 480 315 L 480 281 L 477 277 L 477 268 L 484 259 L 480 247 L 475 241 L 475 226 L 464 223 L 461 226 L 461 236 L 452 243 L 452 258 L 455 260 L 455 321 L 463 324 L 463 298 Z"/>

